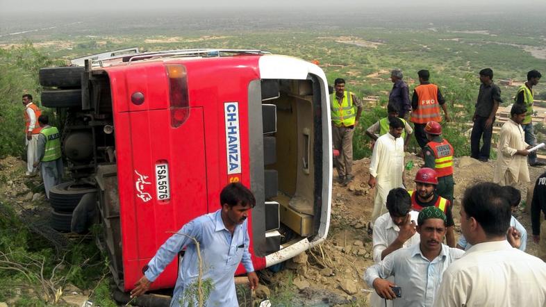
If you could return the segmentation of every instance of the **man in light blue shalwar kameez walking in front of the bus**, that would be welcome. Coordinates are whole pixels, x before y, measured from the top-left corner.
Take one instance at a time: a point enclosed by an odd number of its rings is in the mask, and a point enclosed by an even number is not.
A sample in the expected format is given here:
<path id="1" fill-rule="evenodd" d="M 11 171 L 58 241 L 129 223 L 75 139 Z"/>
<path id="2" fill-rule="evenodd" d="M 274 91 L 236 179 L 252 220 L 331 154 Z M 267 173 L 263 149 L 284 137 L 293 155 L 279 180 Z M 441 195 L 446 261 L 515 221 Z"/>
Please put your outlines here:
<path id="1" fill-rule="evenodd" d="M 185 249 L 174 286 L 171 306 L 197 306 L 195 283 L 199 275 L 199 242 L 201 280 L 210 281 L 212 290 L 206 306 L 239 306 L 233 276 L 239 263 L 245 267 L 251 289 L 258 285 L 258 276 L 249 253 L 248 214 L 256 205 L 252 192 L 240 183 L 230 183 L 220 192 L 222 208 L 201 215 L 172 235 L 151 258 L 144 276 L 135 284 L 131 297 L 144 294 L 163 269 Z"/>

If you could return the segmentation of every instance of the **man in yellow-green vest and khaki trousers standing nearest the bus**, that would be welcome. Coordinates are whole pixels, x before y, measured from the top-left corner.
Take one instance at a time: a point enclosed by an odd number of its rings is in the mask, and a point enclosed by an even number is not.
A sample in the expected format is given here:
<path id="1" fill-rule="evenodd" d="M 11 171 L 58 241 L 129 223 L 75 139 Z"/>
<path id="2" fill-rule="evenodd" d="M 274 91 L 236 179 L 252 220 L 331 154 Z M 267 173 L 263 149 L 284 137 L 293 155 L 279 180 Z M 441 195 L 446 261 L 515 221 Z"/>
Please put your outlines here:
<path id="1" fill-rule="evenodd" d="M 330 110 L 332 115 L 333 148 L 340 152 L 336 158 L 338 182 L 348 185 L 353 179 L 353 134 L 361 118 L 362 102 L 345 90 L 345 80 L 337 78 L 334 83 L 336 92 L 332 94 Z"/>

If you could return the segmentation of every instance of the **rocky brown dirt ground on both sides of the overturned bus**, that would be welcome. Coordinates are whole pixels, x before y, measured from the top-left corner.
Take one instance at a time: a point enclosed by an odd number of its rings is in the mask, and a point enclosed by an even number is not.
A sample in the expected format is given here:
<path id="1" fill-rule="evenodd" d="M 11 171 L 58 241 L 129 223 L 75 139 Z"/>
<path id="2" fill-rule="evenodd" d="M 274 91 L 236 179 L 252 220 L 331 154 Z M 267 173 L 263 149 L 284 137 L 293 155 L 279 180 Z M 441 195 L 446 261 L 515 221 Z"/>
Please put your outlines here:
<path id="1" fill-rule="evenodd" d="M 414 188 L 413 178 L 422 160 L 414 154 L 406 154 L 405 162 L 410 160 L 414 167 L 406 171 L 404 181 L 407 188 Z M 362 276 L 373 264 L 372 241 L 368 238 L 366 225 L 372 214 L 374 194 L 367 186 L 369 163 L 370 158 L 354 161 L 355 179 L 349 186 L 333 183 L 331 224 L 326 242 L 288 260 L 279 272 L 272 273 L 268 269 L 260 272 L 258 297 L 272 297 L 273 306 L 279 306 L 275 302 L 283 299 L 291 302 L 285 302 L 283 306 L 367 306 L 372 290 Z M 453 213 L 457 238 L 463 192 L 473 183 L 492 181 L 494 164 L 495 161 L 481 163 L 468 157 L 455 159 Z M 532 196 L 527 194 L 527 190 L 532 192 L 535 179 L 545 171 L 546 167 L 529 167 L 531 183 L 521 187 L 523 204 L 515 214 L 527 229 L 527 252 L 533 255 L 536 255 L 536 244 L 531 240 L 529 206 L 526 206 Z M 0 159 L 0 199 L 13 201 L 18 212 L 49 206 L 43 192 L 32 188 L 39 184 L 39 177 L 28 179 L 24 176 L 22 160 L 13 157 Z M 292 293 L 292 297 L 283 298 L 286 292 Z"/>

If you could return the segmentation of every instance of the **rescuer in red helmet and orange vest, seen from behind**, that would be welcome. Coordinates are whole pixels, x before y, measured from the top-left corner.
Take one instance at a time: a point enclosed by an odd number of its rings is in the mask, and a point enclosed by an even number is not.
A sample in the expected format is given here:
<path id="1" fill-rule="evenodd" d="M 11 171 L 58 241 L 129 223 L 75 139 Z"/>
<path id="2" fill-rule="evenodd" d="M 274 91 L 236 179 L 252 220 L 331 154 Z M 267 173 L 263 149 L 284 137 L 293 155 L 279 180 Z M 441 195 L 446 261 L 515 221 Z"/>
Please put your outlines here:
<path id="1" fill-rule="evenodd" d="M 424 126 L 424 132 L 427 133 L 429 142 L 423 148 L 424 167 L 429 167 L 436 171 L 438 176 L 438 185 L 436 185 L 436 194 L 447 199 L 453 204 L 453 154 L 452 144 L 449 144 L 445 138 L 442 138 L 442 126 L 437 122 L 428 122 Z"/>

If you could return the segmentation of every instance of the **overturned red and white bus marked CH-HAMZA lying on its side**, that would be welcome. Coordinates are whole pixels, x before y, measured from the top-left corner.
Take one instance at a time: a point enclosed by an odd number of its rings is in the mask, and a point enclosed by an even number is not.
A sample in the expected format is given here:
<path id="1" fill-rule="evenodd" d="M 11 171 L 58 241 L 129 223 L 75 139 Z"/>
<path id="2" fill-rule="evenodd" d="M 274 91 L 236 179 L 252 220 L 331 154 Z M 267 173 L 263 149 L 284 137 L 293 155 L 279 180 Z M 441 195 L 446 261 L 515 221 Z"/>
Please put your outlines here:
<path id="1" fill-rule="evenodd" d="M 78 208 L 97 208 L 99 245 L 120 289 L 133 288 L 173 232 L 220 208 L 229 182 L 256 197 L 256 269 L 326 238 L 332 147 L 317 65 L 257 50 L 172 50 L 44 68 L 40 83 L 42 105 L 65 116 L 63 154 L 74 179 L 65 186 L 96 189 L 70 208 L 72 226 Z M 172 288 L 176 265 L 152 287 Z"/>

